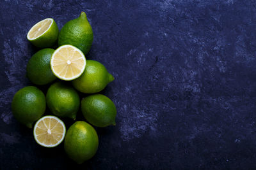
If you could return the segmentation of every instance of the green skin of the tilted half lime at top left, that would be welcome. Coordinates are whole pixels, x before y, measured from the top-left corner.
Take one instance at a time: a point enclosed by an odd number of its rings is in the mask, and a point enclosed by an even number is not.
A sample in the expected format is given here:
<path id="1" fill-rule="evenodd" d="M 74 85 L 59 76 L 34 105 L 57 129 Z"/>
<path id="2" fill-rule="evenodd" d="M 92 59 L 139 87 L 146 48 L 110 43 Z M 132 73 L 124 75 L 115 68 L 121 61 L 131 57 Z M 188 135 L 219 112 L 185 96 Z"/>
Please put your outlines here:
<path id="1" fill-rule="evenodd" d="M 59 29 L 56 22 L 53 20 L 51 27 L 42 36 L 29 40 L 33 45 L 38 48 L 52 47 L 58 40 Z"/>

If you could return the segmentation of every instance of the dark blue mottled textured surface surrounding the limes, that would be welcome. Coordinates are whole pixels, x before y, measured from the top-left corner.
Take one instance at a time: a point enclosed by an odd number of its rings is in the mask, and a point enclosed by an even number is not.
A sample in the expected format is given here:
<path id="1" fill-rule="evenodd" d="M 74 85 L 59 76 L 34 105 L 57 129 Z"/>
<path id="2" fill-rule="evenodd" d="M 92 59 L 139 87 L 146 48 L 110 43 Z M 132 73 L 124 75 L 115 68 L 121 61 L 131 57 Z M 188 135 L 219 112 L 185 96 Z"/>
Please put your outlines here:
<path id="1" fill-rule="evenodd" d="M 256 1 L 2 0 L 0 6 L 0 169 L 256 168 Z M 116 127 L 97 129 L 97 155 L 77 166 L 63 145 L 37 145 L 10 106 L 15 92 L 31 85 L 26 63 L 37 49 L 26 39 L 30 27 L 52 17 L 61 29 L 81 11 L 95 35 L 86 59 L 115 76 L 102 94 L 118 113 Z"/>

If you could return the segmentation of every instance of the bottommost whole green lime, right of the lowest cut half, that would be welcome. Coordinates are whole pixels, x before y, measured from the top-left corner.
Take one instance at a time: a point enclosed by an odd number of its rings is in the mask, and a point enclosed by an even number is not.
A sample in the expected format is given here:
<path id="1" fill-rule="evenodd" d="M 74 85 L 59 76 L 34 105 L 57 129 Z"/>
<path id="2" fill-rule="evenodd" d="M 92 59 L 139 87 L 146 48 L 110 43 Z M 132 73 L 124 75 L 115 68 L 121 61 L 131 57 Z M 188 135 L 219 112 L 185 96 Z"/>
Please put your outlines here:
<path id="1" fill-rule="evenodd" d="M 99 139 L 92 125 L 77 121 L 71 125 L 64 140 L 64 149 L 77 164 L 91 159 L 97 152 Z"/>

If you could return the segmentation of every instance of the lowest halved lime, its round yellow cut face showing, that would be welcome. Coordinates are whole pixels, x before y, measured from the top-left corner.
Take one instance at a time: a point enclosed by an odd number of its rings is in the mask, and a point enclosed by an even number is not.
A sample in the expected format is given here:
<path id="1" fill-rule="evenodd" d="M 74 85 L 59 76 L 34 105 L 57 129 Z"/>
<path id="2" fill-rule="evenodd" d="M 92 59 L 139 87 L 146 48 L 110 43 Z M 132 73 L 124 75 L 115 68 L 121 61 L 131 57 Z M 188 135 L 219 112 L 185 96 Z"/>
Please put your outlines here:
<path id="1" fill-rule="evenodd" d="M 58 117 L 45 116 L 40 118 L 34 126 L 36 142 L 47 148 L 58 146 L 66 133 L 65 124 Z"/>

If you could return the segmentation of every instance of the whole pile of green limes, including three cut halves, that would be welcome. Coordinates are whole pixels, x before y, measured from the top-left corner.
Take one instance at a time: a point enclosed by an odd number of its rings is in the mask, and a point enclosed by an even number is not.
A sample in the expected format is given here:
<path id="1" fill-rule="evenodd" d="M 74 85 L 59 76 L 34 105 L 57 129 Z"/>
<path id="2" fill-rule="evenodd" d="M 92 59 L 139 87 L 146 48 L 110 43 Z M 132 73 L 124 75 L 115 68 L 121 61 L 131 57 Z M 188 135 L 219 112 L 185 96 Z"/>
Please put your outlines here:
<path id="1" fill-rule="evenodd" d="M 84 12 L 67 22 L 60 33 L 56 22 L 46 18 L 29 30 L 27 38 L 38 48 L 44 48 L 28 61 L 29 80 L 35 85 L 54 83 L 47 90 L 46 97 L 35 86 L 20 89 L 13 97 L 13 115 L 21 124 L 34 127 L 35 141 L 41 146 L 54 147 L 64 139 L 67 155 L 81 164 L 95 155 L 99 145 L 92 125 L 106 127 L 116 124 L 115 104 L 108 97 L 96 94 L 114 78 L 100 62 L 84 57 L 93 42 L 92 27 Z M 59 47 L 54 50 L 51 47 L 57 41 Z M 77 91 L 92 95 L 80 100 Z M 46 107 L 53 115 L 42 117 Z M 65 124 L 60 118 L 76 120 L 79 108 L 89 124 L 77 121 L 66 134 Z"/>

